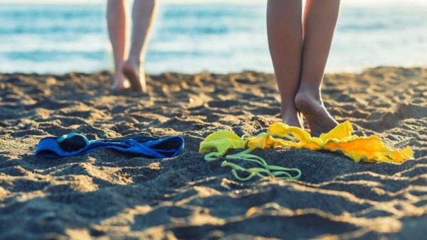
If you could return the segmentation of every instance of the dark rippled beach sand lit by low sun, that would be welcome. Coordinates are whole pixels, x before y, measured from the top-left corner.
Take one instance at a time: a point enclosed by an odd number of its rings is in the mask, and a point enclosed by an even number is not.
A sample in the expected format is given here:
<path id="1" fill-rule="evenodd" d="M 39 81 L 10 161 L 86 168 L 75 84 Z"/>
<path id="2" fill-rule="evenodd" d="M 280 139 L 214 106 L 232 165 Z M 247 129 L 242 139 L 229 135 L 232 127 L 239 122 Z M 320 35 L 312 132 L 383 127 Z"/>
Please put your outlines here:
<path id="1" fill-rule="evenodd" d="M 109 90 L 110 72 L 0 74 L 0 239 L 422 239 L 427 234 L 427 69 L 377 67 L 325 77 L 327 108 L 361 135 L 409 145 L 401 165 L 338 153 L 255 151 L 300 180 L 238 182 L 199 143 L 218 129 L 280 121 L 272 74 L 164 73 L 149 94 Z M 101 150 L 33 155 L 46 136 L 184 137 L 184 153 L 145 159 Z"/>

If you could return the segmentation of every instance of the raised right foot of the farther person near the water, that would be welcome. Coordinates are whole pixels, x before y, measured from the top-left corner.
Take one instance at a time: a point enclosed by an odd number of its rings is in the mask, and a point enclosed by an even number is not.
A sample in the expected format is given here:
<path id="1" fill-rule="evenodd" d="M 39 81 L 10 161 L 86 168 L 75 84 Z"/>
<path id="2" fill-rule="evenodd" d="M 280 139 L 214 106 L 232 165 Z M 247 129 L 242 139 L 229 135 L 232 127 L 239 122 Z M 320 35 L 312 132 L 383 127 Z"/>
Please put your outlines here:
<path id="1" fill-rule="evenodd" d="M 135 92 L 147 92 L 145 72 L 141 70 L 139 61 L 128 59 L 123 65 L 123 74 L 130 82 L 130 87 Z"/>

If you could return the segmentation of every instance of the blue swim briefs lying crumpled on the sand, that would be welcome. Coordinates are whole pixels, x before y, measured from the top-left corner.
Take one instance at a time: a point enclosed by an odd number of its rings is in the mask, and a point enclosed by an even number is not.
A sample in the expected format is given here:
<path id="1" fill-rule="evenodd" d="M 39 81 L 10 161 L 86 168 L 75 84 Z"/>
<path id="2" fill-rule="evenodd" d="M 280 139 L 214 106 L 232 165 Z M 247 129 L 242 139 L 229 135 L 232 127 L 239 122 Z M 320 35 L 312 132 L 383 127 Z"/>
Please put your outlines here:
<path id="1" fill-rule="evenodd" d="M 36 148 L 36 156 L 61 158 L 90 153 L 99 148 L 114 149 L 122 153 L 132 153 L 145 158 L 173 158 L 184 149 L 184 139 L 180 136 L 154 138 L 152 136 L 134 136 L 89 141 L 82 134 L 71 133 L 60 138 L 43 138 Z"/>

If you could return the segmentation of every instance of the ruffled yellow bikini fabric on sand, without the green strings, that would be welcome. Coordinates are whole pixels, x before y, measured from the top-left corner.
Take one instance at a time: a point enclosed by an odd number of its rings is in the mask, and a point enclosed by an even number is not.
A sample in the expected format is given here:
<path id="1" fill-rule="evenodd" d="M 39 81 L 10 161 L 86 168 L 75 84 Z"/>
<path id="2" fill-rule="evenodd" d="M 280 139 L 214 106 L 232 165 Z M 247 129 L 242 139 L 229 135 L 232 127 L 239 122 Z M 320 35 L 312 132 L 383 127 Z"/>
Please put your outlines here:
<path id="1" fill-rule="evenodd" d="M 360 160 L 369 163 L 403 163 L 405 160 L 413 158 L 413 152 L 409 147 L 403 151 L 392 150 L 385 146 L 378 136 L 359 137 L 352 135 L 352 132 L 353 127 L 349 121 L 338 124 L 329 133 L 323 133 L 319 138 L 310 136 L 310 133 L 298 127 L 275 123 L 268 128 L 266 133 L 260 133 L 258 136 L 246 140 L 239 138 L 236 133 L 231 131 L 217 131 L 200 143 L 199 152 L 216 151 L 216 157 L 221 157 L 227 151 L 236 148 L 292 147 L 337 151 L 352 158 L 356 163 Z M 283 139 L 288 134 L 295 136 L 298 141 Z"/>

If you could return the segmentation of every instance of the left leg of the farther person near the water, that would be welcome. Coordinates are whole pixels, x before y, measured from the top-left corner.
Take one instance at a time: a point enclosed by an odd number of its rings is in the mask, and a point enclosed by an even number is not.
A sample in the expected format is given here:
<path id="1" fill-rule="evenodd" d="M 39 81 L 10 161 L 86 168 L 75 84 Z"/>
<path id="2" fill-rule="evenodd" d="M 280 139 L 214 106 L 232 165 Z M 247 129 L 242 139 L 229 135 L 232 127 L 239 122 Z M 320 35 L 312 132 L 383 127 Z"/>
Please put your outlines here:
<path id="1" fill-rule="evenodd" d="M 114 55 L 113 89 L 126 87 L 125 75 L 122 73 L 125 62 L 125 50 L 127 40 L 127 12 L 125 0 L 108 0 L 107 2 L 107 25 L 112 52 Z"/>

